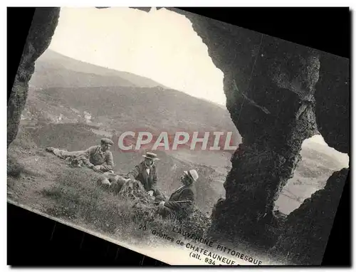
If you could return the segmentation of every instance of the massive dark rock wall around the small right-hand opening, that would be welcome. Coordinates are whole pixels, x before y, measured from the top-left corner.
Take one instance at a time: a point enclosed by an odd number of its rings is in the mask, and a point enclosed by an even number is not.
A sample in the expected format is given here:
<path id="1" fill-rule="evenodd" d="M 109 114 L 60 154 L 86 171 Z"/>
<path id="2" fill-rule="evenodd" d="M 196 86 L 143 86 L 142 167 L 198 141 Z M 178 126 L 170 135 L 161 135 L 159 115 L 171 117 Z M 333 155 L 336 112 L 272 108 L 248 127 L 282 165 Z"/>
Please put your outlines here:
<path id="1" fill-rule="evenodd" d="M 282 225 L 272 210 L 293 177 L 303 140 L 319 131 L 330 147 L 350 152 L 349 61 L 184 15 L 224 72 L 226 106 L 243 137 L 231 158 L 226 199 L 214 208 L 210 235 L 271 246 L 281 234 L 275 256 L 320 264 L 348 169 L 335 172 L 325 189 L 306 199 Z"/>

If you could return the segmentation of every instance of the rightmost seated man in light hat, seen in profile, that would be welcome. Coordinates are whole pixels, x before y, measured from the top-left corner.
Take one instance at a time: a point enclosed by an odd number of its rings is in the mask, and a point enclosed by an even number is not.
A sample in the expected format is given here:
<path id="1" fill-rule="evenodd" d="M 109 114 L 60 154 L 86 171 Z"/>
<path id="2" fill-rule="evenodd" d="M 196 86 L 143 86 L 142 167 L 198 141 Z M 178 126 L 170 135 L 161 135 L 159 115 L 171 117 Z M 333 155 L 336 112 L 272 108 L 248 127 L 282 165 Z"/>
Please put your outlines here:
<path id="1" fill-rule="evenodd" d="M 176 189 L 167 202 L 160 202 L 158 213 L 163 218 L 183 218 L 193 210 L 196 197 L 194 182 L 197 182 L 199 175 L 196 170 L 184 171 L 180 178 L 182 186 Z"/>

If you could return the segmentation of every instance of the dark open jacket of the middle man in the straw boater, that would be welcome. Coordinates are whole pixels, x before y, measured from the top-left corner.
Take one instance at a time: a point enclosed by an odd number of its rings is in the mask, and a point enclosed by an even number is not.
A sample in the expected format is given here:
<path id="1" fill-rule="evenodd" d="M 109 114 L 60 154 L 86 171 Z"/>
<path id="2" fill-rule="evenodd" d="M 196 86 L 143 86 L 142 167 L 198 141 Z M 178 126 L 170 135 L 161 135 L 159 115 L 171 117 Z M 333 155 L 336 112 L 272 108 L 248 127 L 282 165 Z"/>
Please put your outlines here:
<path id="1" fill-rule="evenodd" d="M 139 180 L 142 183 L 143 187 L 145 187 L 146 191 L 155 191 L 157 189 L 156 166 L 155 164 L 153 164 L 153 166 L 150 167 L 150 175 L 147 174 L 146 169 L 147 167 L 145 165 L 145 162 L 141 162 L 127 174 L 127 177 L 130 177 L 130 179 Z"/>

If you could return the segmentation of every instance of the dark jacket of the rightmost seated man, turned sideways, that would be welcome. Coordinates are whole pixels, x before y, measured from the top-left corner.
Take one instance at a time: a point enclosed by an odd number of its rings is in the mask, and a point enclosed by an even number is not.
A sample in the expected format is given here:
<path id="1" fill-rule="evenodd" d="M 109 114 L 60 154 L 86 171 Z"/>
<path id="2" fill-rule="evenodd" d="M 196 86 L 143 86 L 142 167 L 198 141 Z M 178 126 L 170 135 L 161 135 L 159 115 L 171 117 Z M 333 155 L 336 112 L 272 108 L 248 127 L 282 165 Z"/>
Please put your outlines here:
<path id="1" fill-rule="evenodd" d="M 196 195 L 197 192 L 195 190 L 194 184 L 180 187 L 175 192 L 173 192 L 167 202 L 164 202 L 164 206 L 176 213 L 187 214 L 192 211 Z M 179 200 L 191 200 L 192 203 L 174 203 Z"/>

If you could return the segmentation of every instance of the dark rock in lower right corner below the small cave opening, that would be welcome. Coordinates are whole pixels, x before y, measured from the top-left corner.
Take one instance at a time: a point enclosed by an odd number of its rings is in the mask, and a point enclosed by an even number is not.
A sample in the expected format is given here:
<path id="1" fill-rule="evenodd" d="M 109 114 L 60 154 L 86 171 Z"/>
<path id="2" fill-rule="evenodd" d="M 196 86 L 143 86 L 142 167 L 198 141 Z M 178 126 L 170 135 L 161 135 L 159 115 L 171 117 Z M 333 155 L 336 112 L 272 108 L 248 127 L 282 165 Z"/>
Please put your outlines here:
<path id="1" fill-rule="evenodd" d="M 273 255 L 299 265 L 320 265 L 348 172 L 345 168 L 335 172 L 324 189 L 288 215 L 283 234 L 270 251 Z"/>

